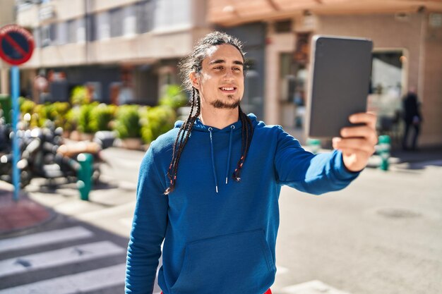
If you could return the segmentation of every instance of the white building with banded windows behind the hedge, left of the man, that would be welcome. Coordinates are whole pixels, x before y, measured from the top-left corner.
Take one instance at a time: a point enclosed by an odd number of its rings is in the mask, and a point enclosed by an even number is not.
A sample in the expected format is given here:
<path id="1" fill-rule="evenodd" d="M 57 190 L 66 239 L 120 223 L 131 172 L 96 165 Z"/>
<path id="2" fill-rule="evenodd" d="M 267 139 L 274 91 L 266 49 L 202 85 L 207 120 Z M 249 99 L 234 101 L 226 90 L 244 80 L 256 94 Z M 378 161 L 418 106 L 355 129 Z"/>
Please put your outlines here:
<path id="1" fill-rule="evenodd" d="M 100 102 L 154 105 L 209 31 L 203 0 L 18 1 L 16 11 L 36 44 L 22 93 L 37 102 L 67 101 L 86 85 Z"/>

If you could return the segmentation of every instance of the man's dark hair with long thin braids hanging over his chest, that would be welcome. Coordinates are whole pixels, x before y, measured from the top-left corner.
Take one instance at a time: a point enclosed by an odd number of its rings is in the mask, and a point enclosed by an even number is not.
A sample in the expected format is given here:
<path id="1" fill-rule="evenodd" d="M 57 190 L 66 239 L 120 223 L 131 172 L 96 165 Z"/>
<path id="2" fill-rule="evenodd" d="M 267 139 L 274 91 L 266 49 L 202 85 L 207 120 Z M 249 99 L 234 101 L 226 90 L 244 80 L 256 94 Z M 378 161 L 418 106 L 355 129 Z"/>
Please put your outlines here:
<path id="1" fill-rule="evenodd" d="M 241 53 L 241 56 L 244 60 L 244 51 L 242 50 L 242 44 L 239 39 L 227 35 L 225 32 L 211 32 L 210 34 L 205 35 L 203 39 L 200 39 L 196 44 L 196 47 L 193 48 L 192 53 L 179 63 L 181 79 L 184 81 L 184 90 L 191 92 L 191 111 L 186 121 L 184 121 L 184 123 L 179 128 L 177 139 L 174 142 L 172 161 L 170 161 L 169 170 L 167 171 L 167 177 L 169 178 L 169 188 L 165 190 L 165 195 L 169 195 L 175 188 L 175 183 L 177 183 L 177 173 L 179 166 L 178 164 L 181 153 L 186 146 L 187 140 L 189 140 L 189 136 L 193 129 L 193 125 L 196 122 L 196 119 L 201 114 L 200 93 L 195 87 L 192 86 L 189 75 L 192 72 L 199 73 L 201 71 L 203 59 L 208 56 L 209 48 L 222 44 L 229 44 L 236 47 L 239 53 Z M 251 123 L 251 119 L 246 116 L 246 114 L 244 114 L 244 112 L 241 110 L 241 106 L 239 106 L 238 109 L 239 119 L 241 120 L 242 124 L 241 157 L 239 158 L 237 168 L 232 174 L 232 178 L 237 181 L 241 180 L 241 169 L 244 166 L 244 161 L 246 160 L 247 153 L 249 152 L 249 147 L 253 136 L 253 125 Z"/>

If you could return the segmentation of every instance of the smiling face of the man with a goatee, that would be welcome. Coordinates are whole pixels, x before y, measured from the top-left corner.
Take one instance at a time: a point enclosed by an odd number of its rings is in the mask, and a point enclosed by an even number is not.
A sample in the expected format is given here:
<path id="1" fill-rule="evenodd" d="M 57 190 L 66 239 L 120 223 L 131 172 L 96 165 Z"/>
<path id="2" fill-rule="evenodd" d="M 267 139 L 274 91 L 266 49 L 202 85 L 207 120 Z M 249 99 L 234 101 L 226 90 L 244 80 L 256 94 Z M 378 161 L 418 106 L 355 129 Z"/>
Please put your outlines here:
<path id="1" fill-rule="evenodd" d="M 213 46 L 203 59 L 200 73 L 191 73 L 193 87 L 201 94 L 201 104 L 217 109 L 234 109 L 244 94 L 244 60 L 229 44 Z"/>

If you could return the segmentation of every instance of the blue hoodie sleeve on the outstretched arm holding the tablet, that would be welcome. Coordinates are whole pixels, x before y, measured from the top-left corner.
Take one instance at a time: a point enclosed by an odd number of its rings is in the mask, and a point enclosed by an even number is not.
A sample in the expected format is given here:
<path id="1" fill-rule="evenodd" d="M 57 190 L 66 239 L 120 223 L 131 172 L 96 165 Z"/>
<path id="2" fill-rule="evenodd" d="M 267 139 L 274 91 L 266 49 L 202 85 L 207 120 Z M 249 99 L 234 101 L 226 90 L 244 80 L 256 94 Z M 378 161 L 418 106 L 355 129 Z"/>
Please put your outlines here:
<path id="1" fill-rule="evenodd" d="M 281 185 L 320 195 L 347 187 L 359 175 L 347 170 L 342 152 L 311 154 L 298 140 L 278 128 L 275 173 Z"/>

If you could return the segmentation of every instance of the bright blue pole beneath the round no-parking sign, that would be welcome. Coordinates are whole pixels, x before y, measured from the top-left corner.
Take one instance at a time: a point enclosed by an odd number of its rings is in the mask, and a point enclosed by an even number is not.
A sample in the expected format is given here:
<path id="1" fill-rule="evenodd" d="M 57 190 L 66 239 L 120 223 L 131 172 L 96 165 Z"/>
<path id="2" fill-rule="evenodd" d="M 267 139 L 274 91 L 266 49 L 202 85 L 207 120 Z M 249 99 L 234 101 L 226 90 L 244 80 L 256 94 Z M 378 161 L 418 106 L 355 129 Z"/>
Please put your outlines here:
<path id="1" fill-rule="evenodd" d="M 20 88 L 20 71 L 18 66 L 11 67 L 11 92 L 12 92 L 12 131 L 13 131 L 13 159 L 12 159 L 12 179 L 14 185 L 13 199 L 18 201 L 18 195 L 20 193 L 20 171 L 18 170 L 17 163 L 20 160 L 20 150 L 18 147 L 18 134 L 17 124 L 18 116 L 20 116 L 20 109 L 18 109 L 18 90 Z"/>

